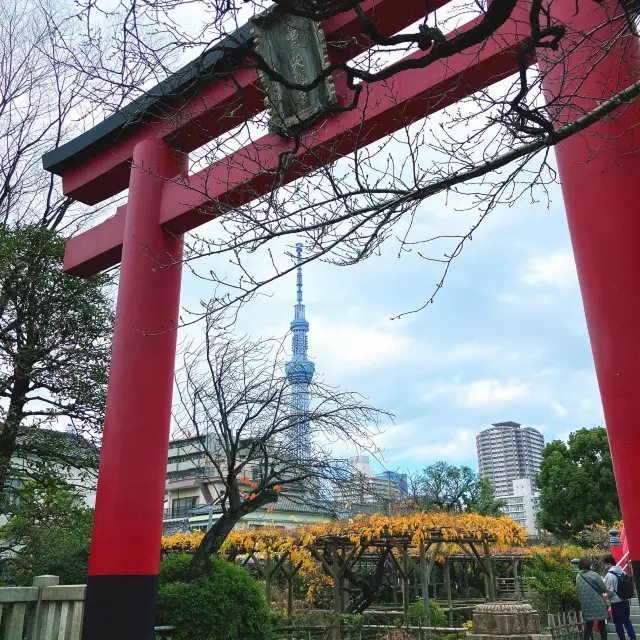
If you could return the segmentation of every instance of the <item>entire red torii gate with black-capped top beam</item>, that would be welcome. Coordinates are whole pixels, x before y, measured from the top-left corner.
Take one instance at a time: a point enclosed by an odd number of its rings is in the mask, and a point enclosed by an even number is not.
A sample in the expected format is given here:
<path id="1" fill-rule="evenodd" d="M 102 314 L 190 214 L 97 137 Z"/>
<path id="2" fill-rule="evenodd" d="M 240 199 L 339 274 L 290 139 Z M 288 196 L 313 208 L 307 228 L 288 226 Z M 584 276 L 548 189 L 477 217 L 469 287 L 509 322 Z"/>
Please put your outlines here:
<path id="1" fill-rule="evenodd" d="M 448 1 L 430 0 L 429 7 L 433 11 Z M 329 115 L 305 132 L 284 181 L 308 174 L 514 73 L 515 53 L 530 32 L 526 0 L 522 5 L 490 41 L 478 47 L 445 63 L 403 72 L 390 86 L 365 83 L 362 98 L 367 97 L 372 106 L 364 117 L 357 110 Z M 388 36 L 424 17 L 425 11 L 424 0 L 401 4 L 364 0 L 361 7 Z M 562 0 L 553 2 L 551 10 L 555 18 L 582 33 L 606 23 L 592 35 L 606 43 L 614 33 L 609 20 L 621 7 L 616 0 L 605 6 L 583 1 L 576 12 L 575 2 Z M 322 28 L 332 62 L 350 60 L 369 47 L 360 35 L 361 21 L 355 12 L 326 20 Z M 246 41 L 248 27 L 234 37 Z M 581 108 L 593 108 L 640 77 L 640 50 L 636 44 L 636 51 L 630 52 L 630 46 L 623 52 L 614 44 L 595 69 L 586 53 L 578 50 L 570 55 L 567 66 L 585 65 L 585 77 L 572 77 L 569 83 L 577 86 L 582 81 L 580 95 L 588 97 L 574 98 L 560 112 L 561 120 L 571 121 L 583 113 Z M 425 54 L 414 54 L 421 55 Z M 256 71 L 242 66 L 234 70 L 224 54 L 214 52 L 200 66 L 183 69 L 43 159 L 45 169 L 62 176 L 64 192 L 81 202 L 95 204 L 129 188 L 128 203 L 113 218 L 69 240 L 65 255 L 65 271 L 80 277 L 121 262 L 84 640 L 153 637 L 176 349 L 176 332 L 164 329 L 178 319 L 181 269 L 154 270 L 149 253 L 179 261 L 181 234 L 215 217 L 211 203 L 220 203 L 222 213 L 225 207 L 268 193 L 274 184 L 268 169 L 276 169 L 280 154 L 292 148 L 291 141 L 265 136 L 186 176 L 190 151 L 264 109 Z M 187 89 L 203 67 L 216 73 L 208 84 L 197 87 L 197 99 L 193 99 Z M 233 82 L 221 80 L 223 72 L 233 74 Z M 545 89 L 551 97 L 559 91 L 561 73 L 552 68 L 546 78 Z M 336 86 L 341 99 L 348 100 L 340 90 L 339 77 Z M 566 82 L 562 91 L 571 95 Z M 234 108 L 236 102 L 240 104 Z M 159 104 L 162 109 L 156 109 Z M 172 117 L 178 113 L 179 117 Z M 640 216 L 636 215 L 635 188 L 640 141 L 634 134 L 638 115 L 633 105 L 616 121 L 593 125 L 589 134 L 598 136 L 600 146 L 594 157 L 585 136 L 563 142 L 556 156 L 625 530 L 631 557 L 640 563 L 640 492 L 634 495 L 633 491 L 633 466 L 640 457 L 640 253 L 636 246 Z M 177 176 L 180 180 L 171 180 Z M 640 564 L 636 570 L 640 575 Z"/>

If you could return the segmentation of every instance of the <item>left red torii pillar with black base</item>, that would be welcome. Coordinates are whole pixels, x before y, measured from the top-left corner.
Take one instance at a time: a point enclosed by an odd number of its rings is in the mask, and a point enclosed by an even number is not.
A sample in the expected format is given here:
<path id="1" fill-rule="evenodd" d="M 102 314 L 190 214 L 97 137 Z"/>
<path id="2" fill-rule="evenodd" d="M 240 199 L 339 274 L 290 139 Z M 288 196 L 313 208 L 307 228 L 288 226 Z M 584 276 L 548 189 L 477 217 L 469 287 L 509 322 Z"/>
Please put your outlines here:
<path id="1" fill-rule="evenodd" d="M 180 265 L 157 268 L 182 258 L 182 236 L 160 226 L 160 200 L 166 180 L 185 168 L 184 154 L 164 140 L 143 140 L 134 149 L 85 640 L 153 633 L 182 276 Z"/>

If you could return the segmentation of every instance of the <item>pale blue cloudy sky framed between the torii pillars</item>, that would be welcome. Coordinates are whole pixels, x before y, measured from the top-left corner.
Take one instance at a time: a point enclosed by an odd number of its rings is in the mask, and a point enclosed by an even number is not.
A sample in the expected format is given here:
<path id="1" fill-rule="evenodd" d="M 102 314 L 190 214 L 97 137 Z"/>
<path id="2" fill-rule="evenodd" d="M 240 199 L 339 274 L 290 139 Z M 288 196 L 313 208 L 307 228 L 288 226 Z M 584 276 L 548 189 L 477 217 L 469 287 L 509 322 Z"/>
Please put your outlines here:
<path id="1" fill-rule="evenodd" d="M 378 439 L 388 468 L 476 466 L 475 436 L 492 422 L 534 426 L 546 440 L 603 423 L 560 187 L 549 196 L 497 210 L 435 303 L 401 320 L 391 318 L 431 295 L 432 263 L 399 259 L 389 244 L 356 267 L 305 267 L 310 357 L 326 382 L 395 415 Z M 456 204 L 423 203 L 425 230 L 468 226 L 477 213 Z M 185 274 L 186 308 L 209 293 Z M 292 274 L 243 311 L 237 331 L 282 336 L 294 303 Z"/>

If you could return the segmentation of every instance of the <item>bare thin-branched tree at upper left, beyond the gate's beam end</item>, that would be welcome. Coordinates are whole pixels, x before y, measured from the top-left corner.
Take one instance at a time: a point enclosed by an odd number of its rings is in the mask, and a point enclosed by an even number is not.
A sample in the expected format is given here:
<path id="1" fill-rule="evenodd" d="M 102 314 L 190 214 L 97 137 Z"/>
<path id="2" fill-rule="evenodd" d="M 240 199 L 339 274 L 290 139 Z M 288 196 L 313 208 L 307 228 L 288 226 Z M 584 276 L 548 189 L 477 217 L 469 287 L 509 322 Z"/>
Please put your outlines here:
<path id="1" fill-rule="evenodd" d="M 103 55 L 87 47 L 72 5 L 65 0 L 0 6 L 0 224 L 38 225 L 66 234 L 95 210 L 65 197 L 55 176 L 42 171 L 42 155 L 104 118 L 109 109 L 88 100 L 99 90 L 75 68 Z M 77 48 L 71 56 L 66 46 Z M 105 83 L 102 82 L 105 86 Z M 118 92 L 109 84 L 113 94 Z M 119 92 L 126 99 L 127 92 Z M 107 203 L 110 204 L 110 203 Z"/>

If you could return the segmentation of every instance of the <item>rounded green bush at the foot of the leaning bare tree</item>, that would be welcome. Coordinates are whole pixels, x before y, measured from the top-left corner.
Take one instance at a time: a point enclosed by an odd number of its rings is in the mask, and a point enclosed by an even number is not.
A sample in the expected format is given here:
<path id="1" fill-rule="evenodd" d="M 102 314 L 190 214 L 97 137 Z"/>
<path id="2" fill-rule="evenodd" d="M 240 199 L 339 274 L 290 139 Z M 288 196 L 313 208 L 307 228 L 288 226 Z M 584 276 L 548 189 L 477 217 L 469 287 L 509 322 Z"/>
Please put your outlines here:
<path id="1" fill-rule="evenodd" d="M 262 585 L 244 569 L 211 558 L 211 571 L 183 582 L 191 556 L 174 555 L 160 569 L 157 624 L 174 625 L 175 640 L 271 640 Z"/>

